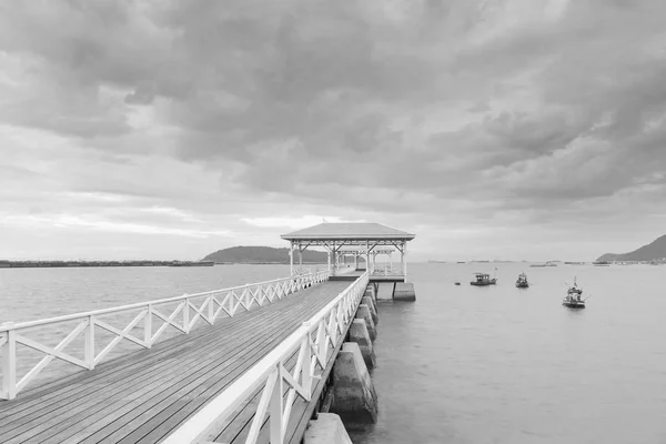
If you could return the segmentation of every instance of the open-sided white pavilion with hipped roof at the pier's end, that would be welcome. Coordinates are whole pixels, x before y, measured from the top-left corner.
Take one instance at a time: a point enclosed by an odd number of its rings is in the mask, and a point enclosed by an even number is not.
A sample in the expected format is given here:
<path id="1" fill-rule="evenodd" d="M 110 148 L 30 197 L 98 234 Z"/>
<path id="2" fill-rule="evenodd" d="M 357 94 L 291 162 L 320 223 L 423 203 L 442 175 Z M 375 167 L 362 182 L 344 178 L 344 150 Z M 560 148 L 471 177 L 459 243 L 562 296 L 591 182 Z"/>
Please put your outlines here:
<path id="1" fill-rule="evenodd" d="M 407 278 L 407 242 L 415 238 L 401 230 L 379 223 L 320 223 L 292 233 L 282 234 L 290 241 L 291 273 L 294 274 L 294 251 L 299 252 L 299 272 L 303 264 L 303 251 L 310 246 L 324 248 L 329 253 L 329 273 L 332 276 L 355 274 L 360 270 L 359 258 L 365 261 L 371 275 L 383 275 L 386 280 L 406 282 Z M 400 266 L 393 266 L 392 254 L 400 252 Z M 379 268 L 376 256 L 386 254 L 389 265 Z M 353 268 L 346 258 L 354 258 Z"/>

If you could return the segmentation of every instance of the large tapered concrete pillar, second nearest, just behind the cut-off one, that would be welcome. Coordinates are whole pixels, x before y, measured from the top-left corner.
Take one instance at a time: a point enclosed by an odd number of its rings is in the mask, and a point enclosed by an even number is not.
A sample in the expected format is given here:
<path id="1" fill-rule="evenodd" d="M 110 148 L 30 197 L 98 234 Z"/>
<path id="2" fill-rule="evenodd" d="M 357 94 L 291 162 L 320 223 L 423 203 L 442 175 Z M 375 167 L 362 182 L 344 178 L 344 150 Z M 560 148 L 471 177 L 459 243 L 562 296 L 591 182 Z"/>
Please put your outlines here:
<path id="1" fill-rule="evenodd" d="M 345 342 L 333 366 L 331 413 L 345 423 L 377 422 L 377 394 L 355 342 Z"/>

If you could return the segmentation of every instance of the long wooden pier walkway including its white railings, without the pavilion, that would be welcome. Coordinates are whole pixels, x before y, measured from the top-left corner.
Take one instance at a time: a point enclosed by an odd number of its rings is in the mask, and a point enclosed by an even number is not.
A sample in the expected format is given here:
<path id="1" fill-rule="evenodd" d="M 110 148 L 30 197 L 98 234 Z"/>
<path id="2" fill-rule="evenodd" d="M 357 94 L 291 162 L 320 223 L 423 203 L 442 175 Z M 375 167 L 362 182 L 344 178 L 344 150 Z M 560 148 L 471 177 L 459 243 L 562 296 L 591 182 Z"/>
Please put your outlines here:
<path id="1" fill-rule="evenodd" d="M 0 325 L 0 441 L 300 443 L 366 306 L 372 271 L 332 280 L 327 271 L 293 270 L 275 281 Z M 124 327 L 112 323 L 119 313 L 131 314 Z M 75 326 L 58 345 L 30 339 L 61 323 Z M 167 329 L 181 334 L 164 337 Z M 100 330 L 114 339 L 100 344 Z M 79 335 L 83 357 L 65 351 Z M 104 361 L 123 341 L 142 350 Z M 17 345 L 44 354 L 22 375 Z M 34 383 L 53 360 L 84 370 Z"/>

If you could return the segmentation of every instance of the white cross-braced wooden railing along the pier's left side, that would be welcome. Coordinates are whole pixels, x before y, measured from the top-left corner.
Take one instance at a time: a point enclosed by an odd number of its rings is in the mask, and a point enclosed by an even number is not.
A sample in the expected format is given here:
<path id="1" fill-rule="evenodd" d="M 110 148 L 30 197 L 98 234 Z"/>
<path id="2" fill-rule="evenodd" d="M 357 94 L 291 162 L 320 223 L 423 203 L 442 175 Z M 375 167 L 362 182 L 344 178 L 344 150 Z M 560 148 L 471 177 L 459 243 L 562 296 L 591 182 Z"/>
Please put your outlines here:
<path id="1" fill-rule="evenodd" d="M 306 286 L 325 281 L 327 278 L 327 272 L 321 271 L 313 274 L 303 274 L 195 294 L 183 294 L 182 296 L 39 321 L 18 324 L 4 323 L 0 325 L 0 375 L 2 376 L 0 398 L 14 398 L 54 359 L 69 362 L 82 369 L 92 370 L 123 340 L 150 349 L 164 335 L 168 327 L 189 334 L 198 323 L 205 322 L 213 325 L 221 317 L 233 317 L 239 311 L 249 311 L 254 306 L 270 304 Z M 164 313 L 164 310 L 169 310 L 169 312 Z M 113 320 L 109 319 L 119 313 L 131 316 L 129 323 L 123 324 L 125 325 L 124 327 L 112 325 L 111 322 Z M 153 323 L 153 321 L 157 322 Z M 69 327 L 71 329 L 72 323 L 75 323 L 74 329 L 56 346 L 50 346 L 39 340 L 26 336 L 28 332 L 33 333 L 36 330 L 49 329 L 58 324 L 60 324 L 60 327 L 70 325 Z M 138 337 L 133 332 L 134 329 L 143 330 L 143 337 Z M 73 351 L 65 352 L 64 349 L 81 333 L 84 335 L 83 356 L 77 357 Z M 95 334 L 101 335 L 102 333 L 111 333 L 112 340 L 98 351 Z M 52 331 L 43 334 L 43 336 L 51 335 Z M 29 365 L 30 370 L 20 379 L 18 379 L 17 374 L 20 357 L 17 355 L 18 344 L 43 354 L 43 357 L 36 365 Z M 79 354 L 81 354 L 80 351 Z"/>

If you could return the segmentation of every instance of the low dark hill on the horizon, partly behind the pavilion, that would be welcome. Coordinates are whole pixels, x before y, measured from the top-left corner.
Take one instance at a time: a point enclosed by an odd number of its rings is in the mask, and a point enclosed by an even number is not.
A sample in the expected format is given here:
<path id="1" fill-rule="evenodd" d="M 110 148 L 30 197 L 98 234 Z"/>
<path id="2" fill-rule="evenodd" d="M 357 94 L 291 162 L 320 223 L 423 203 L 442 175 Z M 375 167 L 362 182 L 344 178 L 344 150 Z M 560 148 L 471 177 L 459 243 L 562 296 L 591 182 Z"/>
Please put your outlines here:
<path id="1" fill-rule="evenodd" d="M 294 263 L 299 262 L 297 258 L 299 255 L 295 253 Z M 272 246 L 232 246 L 230 249 L 218 250 L 216 252 L 203 258 L 202 261 L 242 264 L 287 264 L 289 249 L 274 249 Z M 303 263 L 326 263 L 326 253 L 311 250 L 305 250 L 303 252 Z"/>

